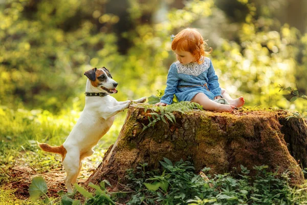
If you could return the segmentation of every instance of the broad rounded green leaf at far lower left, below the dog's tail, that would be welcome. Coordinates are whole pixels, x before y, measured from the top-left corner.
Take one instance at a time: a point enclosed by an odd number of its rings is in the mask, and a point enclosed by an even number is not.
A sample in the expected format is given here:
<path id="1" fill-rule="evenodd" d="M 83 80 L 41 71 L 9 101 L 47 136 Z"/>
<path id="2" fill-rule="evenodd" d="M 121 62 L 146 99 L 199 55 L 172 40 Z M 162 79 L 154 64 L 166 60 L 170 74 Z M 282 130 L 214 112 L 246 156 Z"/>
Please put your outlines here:
<path id="1" fill-rule="evenodd" d="M 31 185 L 29 186 L 29 194 L 31 200 L 36 200 L 41 195 L 47 193 L 48 187 L 41 176 L 36 176 L 32 179 Z"/>

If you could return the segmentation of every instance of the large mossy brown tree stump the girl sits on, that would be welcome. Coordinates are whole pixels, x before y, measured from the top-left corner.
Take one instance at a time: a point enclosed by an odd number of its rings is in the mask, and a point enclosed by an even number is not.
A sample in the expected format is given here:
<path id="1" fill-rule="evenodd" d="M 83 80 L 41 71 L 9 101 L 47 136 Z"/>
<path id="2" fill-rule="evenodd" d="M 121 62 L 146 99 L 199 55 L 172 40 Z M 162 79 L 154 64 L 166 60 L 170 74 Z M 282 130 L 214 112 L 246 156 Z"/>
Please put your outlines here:
<path id="1" fill-rule="evenodd" d="M 233 113 L 174 112 L 176 123 L 165 118 L 167 123 L 160 120 L 142 132 L 151 112 L 144 108 L 130 106 L 117 141 L 84 186 L 103 179 L 116 186 L 125 182 L 127 169 L 145 162 L 149 169 L 160 169 L 163 157 L 189 159 L 196 172 L 204 167 L 210 167 L 211 173 L 226 173 L 240 170 L 240 165 L 250 170 L 268 165 L 271 171 L 292 172 L 292 183 L 304 180 L 300 166 L 307 167 L 307 126 L 303 119 L 287 120 L 291 112 L 242 108 Z"/>

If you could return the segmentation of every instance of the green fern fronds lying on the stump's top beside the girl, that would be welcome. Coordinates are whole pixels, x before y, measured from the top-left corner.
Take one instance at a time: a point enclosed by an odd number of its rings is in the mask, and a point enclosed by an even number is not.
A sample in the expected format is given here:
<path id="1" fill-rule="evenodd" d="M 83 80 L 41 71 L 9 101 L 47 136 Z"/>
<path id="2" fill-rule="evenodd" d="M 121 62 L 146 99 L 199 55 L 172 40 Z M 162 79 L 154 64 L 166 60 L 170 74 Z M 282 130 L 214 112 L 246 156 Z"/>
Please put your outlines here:
<path id="1" fill-rule="evenodd" d="M 152 108 L 152 107 L 151 107 Z M 201 105 L 198 103 L 191 103 L 189 101 L 182 101 L 179 103 L 171 104 L 168 106 L 157 106 L 153 107 L 152 110 L 155 112 L 151 112 L 147 114 L 147 118 L 149 120 L 148 125 L 143 124 L 143 130 L 146 130 L 149 127 L 154 127 L 156 123 L 162 120 L 164 123 L 167 124 L 167 119 L 172 123 L 176 123 L 176 117 L 174 116 L 173 112 L 179 112 L 181 114 L 190 112 L 194 109 L 203 109 Z M 146 109 L 145 109 L 146 112 Z M 159 112 L 159 113 L 157 113 Z"/>

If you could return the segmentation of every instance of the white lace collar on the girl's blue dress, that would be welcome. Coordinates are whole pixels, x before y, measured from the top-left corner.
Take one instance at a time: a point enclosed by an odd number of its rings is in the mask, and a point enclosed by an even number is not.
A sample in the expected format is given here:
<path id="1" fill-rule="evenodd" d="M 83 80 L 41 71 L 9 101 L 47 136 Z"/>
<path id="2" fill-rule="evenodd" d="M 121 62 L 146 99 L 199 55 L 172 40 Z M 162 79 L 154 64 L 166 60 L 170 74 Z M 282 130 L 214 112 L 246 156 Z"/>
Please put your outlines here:
<path id="1" fill-rule="evenodd" d="M 198 76 L 202 74 L 205 70 L 208 70 L 208 68 L 210 67 L 210 58 L 205 57 L 205 61 L 202 64 L 198 64 L 194 62 L 194 63 L 182 65 L 179 61 L 175 62 L 174 64 L 177 67 L 178 73 Z"/>

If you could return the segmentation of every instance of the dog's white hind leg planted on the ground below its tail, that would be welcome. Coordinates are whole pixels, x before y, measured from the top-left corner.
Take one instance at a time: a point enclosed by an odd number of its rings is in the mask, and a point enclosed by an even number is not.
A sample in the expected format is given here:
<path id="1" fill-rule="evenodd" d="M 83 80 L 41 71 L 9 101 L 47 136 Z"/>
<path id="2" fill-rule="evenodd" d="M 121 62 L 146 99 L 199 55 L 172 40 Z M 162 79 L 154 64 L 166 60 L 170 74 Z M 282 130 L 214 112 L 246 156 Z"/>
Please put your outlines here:
<path id="1" fill-rule="evenodd" d="M 80 164 L 80 160 L 79 160 L 79 150 L 70 150 L 64 160 L 63 160 L 63 166 L 64 169 L 67 173 L 67 176 L 65 178 L 65 184 L 67 187 L 67 192 L 68 193 L 72 193 L 73 192 L 73 188 L 72 188 L 72 183 L 74 178 L 76 177 L 76 175 L 78 176 L 78 170 L 79 170 L 79 164 Z"/>

